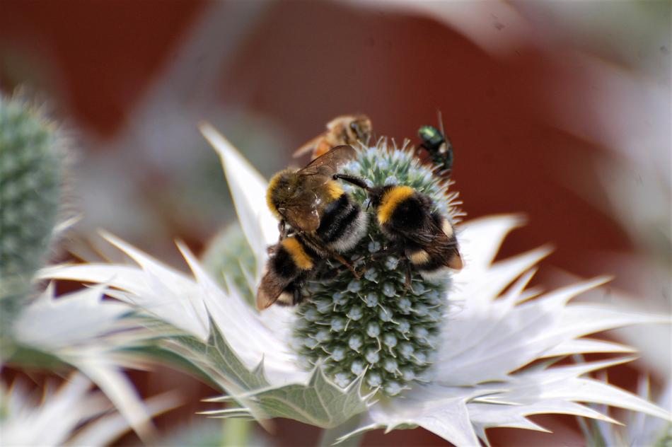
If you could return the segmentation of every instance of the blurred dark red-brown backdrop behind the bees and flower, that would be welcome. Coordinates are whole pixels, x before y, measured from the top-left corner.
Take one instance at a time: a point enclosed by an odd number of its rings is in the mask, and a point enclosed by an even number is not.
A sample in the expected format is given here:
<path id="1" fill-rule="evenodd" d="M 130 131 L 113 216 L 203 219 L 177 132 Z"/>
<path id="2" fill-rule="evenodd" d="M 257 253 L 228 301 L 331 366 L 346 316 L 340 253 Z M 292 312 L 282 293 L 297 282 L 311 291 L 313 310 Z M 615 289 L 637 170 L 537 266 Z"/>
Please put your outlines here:
<path id="1" fill-rule="evenodd" d="M 493 16 L 489 22 L 503 40 L 516 33 L 501 18 Z M 599 126 L 601 117 L 584 107 L 583 100 L 591 91 L 609 87 L 593 83 L 581 59 L 564 58 L 567 48 L 562 45 L 562 41 L 519 40 L 506 52 L 493 54 L 440 21 L 383 4 L 354 8 L 326 1 L 0 3 L 3 90 L 24 86 L 50 99 L 54 113 L 66 120 L 81 143 L 80 158 L 100 152 L 113 158 L 117 143 L 124 141 L 128 152 L 122 167 L 127 163 L 129 170 L 139 169 L 132 166 L 137 154 L 147 178 L 167 175 L 162 181 L 170 182 L 170 170 L 157 173 L 156 163 L 141 155 L 154 151 L 161 157 L 161 144 L 170 143 L 166 137 L 139 137 L 140 132 L 170 134 L 162 126 L 172 121 L 161 117 L 171 115 L 170 120 L 191 129 L 182 148 L 191 151 L 205 146 L 195 130 L 199 120 L 212 120 L 230 134 L 227 129 L 238 122 L 232 116 L 252 115 L 282 129 L 277 146 L 270 138 L 266 146 L 248 153 L 245 141 L 257 131 L 265 132 L 255 126 L 231 139 L 253 162 L 265 154 L 272 158 L 258 165 L 270 175 L 336 115 L 365 112 L 376 134 L 416 141 L 419 125 L 436 124 L 436 111 L 441 110 L 456 150 L 453 177 L 468 219 L 511 212 L 528 217 L 528 225 L 511 234 L 499 256 L 552 243 L 556 250 L 546 267 L 590 277 L 610 273 L 595 262 L 596 253 L 630 255 L 635 248 L 622 224 L 578 192 L 589 191 L 590 197 L 603 194 L 592 162 L 611 152 L 601 142 L 579 137 L 555 122 L 557 104 L 568 104 L 563 112 L 573 120 Z M 668 61 L 668 54 L 660 52 Z M 174 98 L 166 98 L 171 93 Z M 152 99 L 153 95 L 163 99 Z M 134 129 L 139 108 L 153 110 L 141 117 L 142 130 Z M 221 115 L 218 110 L 227 112 Z M 75 164 L 75 175 L 77 169 Z M 113 173 L 121 180 L 125 174 Z M 163 192 L 149 194 L 161 197 Z M 230 204 L 222 202 L 221 207 Z M 86 220 L 91 211 L 81 212 Z M 167 237 L 153 242 L 134 236 L 120 223 L 110 222 L 112 228 L 106 228 L 148 250 L 154 244 L 170 247 L 173 238 L 199 249 L 224 224 L 213 219 L 193 228 L 180 219 L 166 221 L 162 224 L 168 226 Z M 542 269 L 540 283 L 548 271 Z M 612 284 L 637 293 L 627 277 L 617 277 Z M 631 368 L 617 370 L 617 376 L 610 375 L 615 383 L 634 383 Z M 161 419 L 162 429 L 192 419 L 192 413 L 202 409 L 197 397 L 213 393 L 177 373 L 170 373 L 170 378 L 166 371 L 133 374 L 142 393 L 154 393 L 154 388 L 175 381 L 194 390 L 190 405 Z M 572 418 L 535 421 L 560 435 L 507 429 L 489 433 L 494 445 L 581 442 L 572 433 L 577 429 Z M 318 431 L 297 425 L 278 424 L 276 439 L 282 440 L 281 445 L 313 443 Z M 125 442 L 132 442 L 132 437 Z M 366 436 L 365 444 L 381 443 L 444 441 L 421 430 Z"/>

